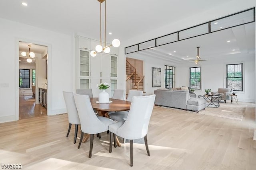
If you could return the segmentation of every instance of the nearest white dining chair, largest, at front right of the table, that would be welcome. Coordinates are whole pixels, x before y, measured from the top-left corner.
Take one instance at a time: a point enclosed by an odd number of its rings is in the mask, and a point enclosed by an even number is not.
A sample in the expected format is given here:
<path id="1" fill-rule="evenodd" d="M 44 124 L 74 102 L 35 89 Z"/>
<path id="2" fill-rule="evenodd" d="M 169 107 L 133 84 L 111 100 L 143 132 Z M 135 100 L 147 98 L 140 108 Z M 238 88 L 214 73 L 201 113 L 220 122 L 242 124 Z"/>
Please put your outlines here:
<path id="1" fill-rule="evenodd" d="M 128 113 L 127 119 L 125 121 L 119 121 L 109 125 L 109 137 L 110 145 L 109 152 L 112 152 L 112 137 L 114 140 L 118 135 L 122 138 L 130 140 L 130 165 L 133 166 L 133 140 L 140 139 L 144 137 L 146 150 L 148 156 L 150 152 L 148 149 L 148 124 L 154 107 L 156 95 L 133 97 L 130 111 Z M 115 141 L 114 141 L 115 145 Z M 116 147 L 116 146 L 115 146 Z"/>

